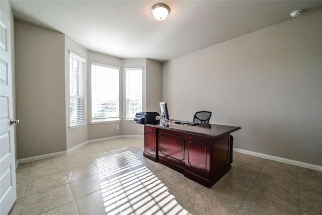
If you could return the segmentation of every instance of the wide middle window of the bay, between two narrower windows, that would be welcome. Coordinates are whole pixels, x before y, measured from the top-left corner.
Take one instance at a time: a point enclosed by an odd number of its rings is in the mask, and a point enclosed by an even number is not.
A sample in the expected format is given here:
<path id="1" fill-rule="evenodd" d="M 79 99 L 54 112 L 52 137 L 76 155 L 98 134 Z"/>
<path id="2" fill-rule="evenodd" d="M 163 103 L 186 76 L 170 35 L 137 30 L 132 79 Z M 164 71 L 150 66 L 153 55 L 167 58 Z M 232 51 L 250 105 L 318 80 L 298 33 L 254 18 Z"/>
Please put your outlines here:
<path id="1" fill-rule="evenodd" d="M 119 70 L 92 62 L 92 122 L 120 119 Z"/>

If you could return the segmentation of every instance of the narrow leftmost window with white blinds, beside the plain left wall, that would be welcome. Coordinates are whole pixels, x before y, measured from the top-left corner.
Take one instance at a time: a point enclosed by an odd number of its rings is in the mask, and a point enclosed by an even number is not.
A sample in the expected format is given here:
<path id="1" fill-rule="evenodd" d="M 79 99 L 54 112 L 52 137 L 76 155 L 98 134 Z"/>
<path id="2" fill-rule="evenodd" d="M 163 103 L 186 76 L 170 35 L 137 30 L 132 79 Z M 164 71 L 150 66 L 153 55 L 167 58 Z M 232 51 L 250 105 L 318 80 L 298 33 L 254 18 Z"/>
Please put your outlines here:
<path id="1" fill-rule="evenodd" d="M 70 126 L 85 123 L 85 59 L 69 52 Z"/>

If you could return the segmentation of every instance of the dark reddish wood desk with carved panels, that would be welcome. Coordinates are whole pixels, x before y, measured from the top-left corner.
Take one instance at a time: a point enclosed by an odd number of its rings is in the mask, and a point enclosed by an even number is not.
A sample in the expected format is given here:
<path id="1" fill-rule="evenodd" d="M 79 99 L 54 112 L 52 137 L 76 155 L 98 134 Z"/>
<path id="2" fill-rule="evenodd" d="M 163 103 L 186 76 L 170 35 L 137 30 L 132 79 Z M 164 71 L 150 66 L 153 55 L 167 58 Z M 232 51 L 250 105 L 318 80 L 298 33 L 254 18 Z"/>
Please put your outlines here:
<path id="1" fill-rule="evenodd" d="M 230 133 L 215 124 L 145 124 L 143 156 L 211 187 L 230 170 Z"/>

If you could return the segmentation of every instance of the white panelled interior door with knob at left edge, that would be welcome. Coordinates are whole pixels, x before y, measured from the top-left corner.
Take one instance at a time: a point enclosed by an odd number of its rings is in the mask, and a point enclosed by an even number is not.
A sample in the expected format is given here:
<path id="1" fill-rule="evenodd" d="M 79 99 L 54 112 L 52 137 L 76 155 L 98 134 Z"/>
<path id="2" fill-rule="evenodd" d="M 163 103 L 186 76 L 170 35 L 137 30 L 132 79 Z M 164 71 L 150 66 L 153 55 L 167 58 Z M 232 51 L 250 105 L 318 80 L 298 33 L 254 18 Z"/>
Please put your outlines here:
<path id="1" fill-rule="evenodd" d="M 8 214 L 17 199 L 10 21 L 1 11 L 0 19 L 0 214 Z"/>

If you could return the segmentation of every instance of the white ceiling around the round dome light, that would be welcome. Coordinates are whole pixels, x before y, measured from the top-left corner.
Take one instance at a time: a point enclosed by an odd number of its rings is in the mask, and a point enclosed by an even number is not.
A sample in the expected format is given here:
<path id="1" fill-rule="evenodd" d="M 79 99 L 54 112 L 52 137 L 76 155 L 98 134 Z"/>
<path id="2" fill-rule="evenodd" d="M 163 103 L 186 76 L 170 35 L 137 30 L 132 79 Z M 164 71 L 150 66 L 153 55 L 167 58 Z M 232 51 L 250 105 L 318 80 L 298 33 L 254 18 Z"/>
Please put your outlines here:
<path id="1" fill-rule="evenodd" d="M 157 21 L 150 9 L 171 8 Z M 322 8 L 322 1 L 15 1 L 17 19 L 119 58 L 170 60 Z M 294 18 L 296 19 L 296 18 Z"/>

